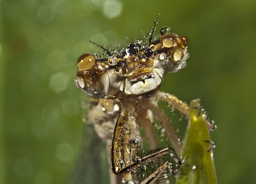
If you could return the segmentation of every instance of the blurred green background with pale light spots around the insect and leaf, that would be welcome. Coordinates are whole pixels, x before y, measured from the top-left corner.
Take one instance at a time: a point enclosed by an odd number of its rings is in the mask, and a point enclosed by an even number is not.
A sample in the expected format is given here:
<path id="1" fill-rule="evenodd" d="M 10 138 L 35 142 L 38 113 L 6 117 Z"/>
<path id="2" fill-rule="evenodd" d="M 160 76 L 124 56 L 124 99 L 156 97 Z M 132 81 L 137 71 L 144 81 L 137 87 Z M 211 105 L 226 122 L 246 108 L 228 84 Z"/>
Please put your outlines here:
<path id="1" fill-rule="evenodd" d="M 88 40 L 134 40 L 158 13 L 157 32 L 186 35 L 190 54 L 161 90 L 201 98 L 215 120 L 219 184 L 255 183 L 255 10 L 253 0 L 0 0 L 0 183 L 107 183 L 108 153 L 92 127 L 70 179 L 84 133 L 76 61 L 98 50 Z"/>

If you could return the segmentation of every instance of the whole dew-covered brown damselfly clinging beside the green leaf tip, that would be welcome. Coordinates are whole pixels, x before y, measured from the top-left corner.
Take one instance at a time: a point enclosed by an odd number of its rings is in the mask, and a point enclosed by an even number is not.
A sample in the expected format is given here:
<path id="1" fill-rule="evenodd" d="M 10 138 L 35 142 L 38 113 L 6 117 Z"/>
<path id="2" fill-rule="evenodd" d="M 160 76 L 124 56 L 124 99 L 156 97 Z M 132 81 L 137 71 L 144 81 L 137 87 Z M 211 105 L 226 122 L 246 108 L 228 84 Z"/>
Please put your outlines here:
<path id="1" fill-rule="evenodd" d="M 134 40 L 119 51 L 92 42 L 104 53 L 101 56 L 83 54 L 78 59 L 75 85 L 91 97 L 88 121 L 107 142 L 112 175 L 121 176 L 122 183 L 169 183 L 169 173 L 175 175 L 186 161 L 180 157 L 182 144 L 157 102 L 167 102 L 183 115 L 189 115 L 185 102 L 159 91 L 167 73 L 186 67 L 189 42 L 186 36 L 172 33 L 167 26 L 154 38 L 158 18 L 144 40 Z M 212 130 L 212 122 L 206 115 L 205 118 Z M 158 148 L 154 119 L 160 122 L 173 149 Z M 145 130 L 144 138 L 141 128 Z M 149 143 L 148 153 L 142 150 L 143 139 Z M 119 177 L 114 178 L 111 183 L 121 182 Z"/>

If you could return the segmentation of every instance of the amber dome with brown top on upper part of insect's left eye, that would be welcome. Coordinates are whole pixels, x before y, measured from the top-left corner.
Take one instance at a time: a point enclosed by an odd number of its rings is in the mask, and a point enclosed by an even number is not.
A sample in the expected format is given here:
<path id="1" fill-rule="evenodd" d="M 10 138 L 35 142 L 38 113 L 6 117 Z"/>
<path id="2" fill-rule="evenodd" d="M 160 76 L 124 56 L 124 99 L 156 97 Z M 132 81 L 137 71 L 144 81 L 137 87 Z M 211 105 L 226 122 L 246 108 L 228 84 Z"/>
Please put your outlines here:
<path id="1" fill-rule="evenodd" d="M 79 57 L 77 62 L 78 67 L 82 71 L 92 70 L 93 66 L 95 65 L 95 57 L 89 54 L 83 54 Z"/>

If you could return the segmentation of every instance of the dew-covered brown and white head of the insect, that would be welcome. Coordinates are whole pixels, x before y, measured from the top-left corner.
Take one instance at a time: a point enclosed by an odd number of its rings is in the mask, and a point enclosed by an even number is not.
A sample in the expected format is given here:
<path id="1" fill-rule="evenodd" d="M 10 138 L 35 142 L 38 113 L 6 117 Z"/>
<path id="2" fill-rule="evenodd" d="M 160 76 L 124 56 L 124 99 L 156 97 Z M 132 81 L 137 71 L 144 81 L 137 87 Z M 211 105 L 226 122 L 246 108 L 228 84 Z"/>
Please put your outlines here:
<path id="1" fill-rule="evenodd" d="M 98 45 L 108 57 L 81 55 L 76 87 L 94 99 L 114 95 L 137 100 L 154 95 L 165 74 L 184 68 L 188 58 L 188 39 L 185 36 L 171 33 L 166 26 L 160 32 L 161 35 L 152 42 L 151 39 L 149 42 L 134 40 L 121 51 L 108 51 Z"/>

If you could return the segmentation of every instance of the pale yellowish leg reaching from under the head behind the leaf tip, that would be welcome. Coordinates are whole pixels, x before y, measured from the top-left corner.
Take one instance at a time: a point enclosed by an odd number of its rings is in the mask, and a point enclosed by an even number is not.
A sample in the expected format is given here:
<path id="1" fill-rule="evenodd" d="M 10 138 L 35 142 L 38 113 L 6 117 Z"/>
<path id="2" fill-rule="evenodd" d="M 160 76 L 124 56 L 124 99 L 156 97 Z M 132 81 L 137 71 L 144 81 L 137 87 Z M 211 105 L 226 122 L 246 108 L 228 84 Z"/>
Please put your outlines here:
<path id="1" fill-rule="evenodd" d="M 189 105 L 177 99 L 176 96 L 173 96 L 169 93 L 164 93 L 163 91 L 158 91 L 156 97 L 159 100 L 169 103 L 170 105 L 172 105 L 172 107 L 174 107 L 184 115 L 189 115 Z M 213 126 L 213 121 L 209 121 L 206 113 L 204 113 L 204 118 L 207 120 L 207 128 L 209 129 L 209 132 L 212 132 L 212 130 L 215 130 L 217 128 L 216 126 Z"/>

